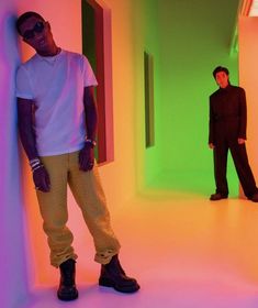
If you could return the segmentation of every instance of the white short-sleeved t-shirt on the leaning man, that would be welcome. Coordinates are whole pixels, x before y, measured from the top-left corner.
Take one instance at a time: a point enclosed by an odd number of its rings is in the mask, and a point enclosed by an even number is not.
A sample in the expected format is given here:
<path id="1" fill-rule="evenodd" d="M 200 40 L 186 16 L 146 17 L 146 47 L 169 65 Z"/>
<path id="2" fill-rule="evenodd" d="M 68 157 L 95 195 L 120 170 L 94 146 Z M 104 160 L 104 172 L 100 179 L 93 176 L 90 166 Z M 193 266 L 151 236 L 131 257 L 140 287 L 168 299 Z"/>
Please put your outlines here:
<path id="1" fill-rule="evenodd" d="M 86 139 L 83 88 L 97 86 L 88 59 L 61 51 L 53 57 L 35 54 L 16 74 L 16 97 L 35 103 L 36 147 L 40 156 L 82 148 Z"/>

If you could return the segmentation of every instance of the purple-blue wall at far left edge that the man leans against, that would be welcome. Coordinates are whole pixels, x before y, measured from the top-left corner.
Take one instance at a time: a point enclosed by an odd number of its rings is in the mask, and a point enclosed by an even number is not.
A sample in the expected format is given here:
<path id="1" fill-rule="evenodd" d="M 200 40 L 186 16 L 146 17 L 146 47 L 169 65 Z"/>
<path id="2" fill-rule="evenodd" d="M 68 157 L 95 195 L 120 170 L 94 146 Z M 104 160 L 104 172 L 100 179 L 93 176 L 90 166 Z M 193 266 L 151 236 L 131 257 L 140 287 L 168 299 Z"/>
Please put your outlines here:
<path id="1" fill-rule="evenodd" d="M 1 3 L 0 10 L 0 302 L 21 307 L 29 293 L 23 200 L 16 131 L 15 70 L 19 48 L 15 12 Z M 3 7 L 3 8 L 2 8 Z"/>

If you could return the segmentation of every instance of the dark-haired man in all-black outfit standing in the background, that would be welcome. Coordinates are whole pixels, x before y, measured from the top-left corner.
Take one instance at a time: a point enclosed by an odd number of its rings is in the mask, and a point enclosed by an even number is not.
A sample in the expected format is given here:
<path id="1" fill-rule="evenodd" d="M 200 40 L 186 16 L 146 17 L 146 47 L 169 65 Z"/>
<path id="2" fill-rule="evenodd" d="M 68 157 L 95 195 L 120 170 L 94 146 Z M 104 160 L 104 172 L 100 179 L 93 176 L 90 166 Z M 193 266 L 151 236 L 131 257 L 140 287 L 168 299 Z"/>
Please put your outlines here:
<path id="1" fill-rule="evenodd" d="M 210 200 L 226 199 L 227 153 L 231 150 L 236 172 L 246 197 L 258 202 L 258 189 L 246 153 L 246 96 L 240 87 L 232 86 L 229 72 L 217 66 L 213 76 L 220 89 L 210 96 L 209 146 L 214 153 L 216 191 Z"/>

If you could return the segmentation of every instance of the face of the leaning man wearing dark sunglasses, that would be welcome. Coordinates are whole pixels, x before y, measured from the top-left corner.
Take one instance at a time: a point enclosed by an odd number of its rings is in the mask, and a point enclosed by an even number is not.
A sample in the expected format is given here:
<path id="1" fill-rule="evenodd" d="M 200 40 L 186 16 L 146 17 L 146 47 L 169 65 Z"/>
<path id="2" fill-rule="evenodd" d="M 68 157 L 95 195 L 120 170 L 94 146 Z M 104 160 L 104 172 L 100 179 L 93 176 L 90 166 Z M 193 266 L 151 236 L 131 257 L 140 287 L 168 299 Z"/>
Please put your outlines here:
<path id="1" fill-rule="evenodd" d="M 54 43 L 48 22 L 31 16 L 21 26 L 23 41 L 37 52 L 47 52 Z"/>

